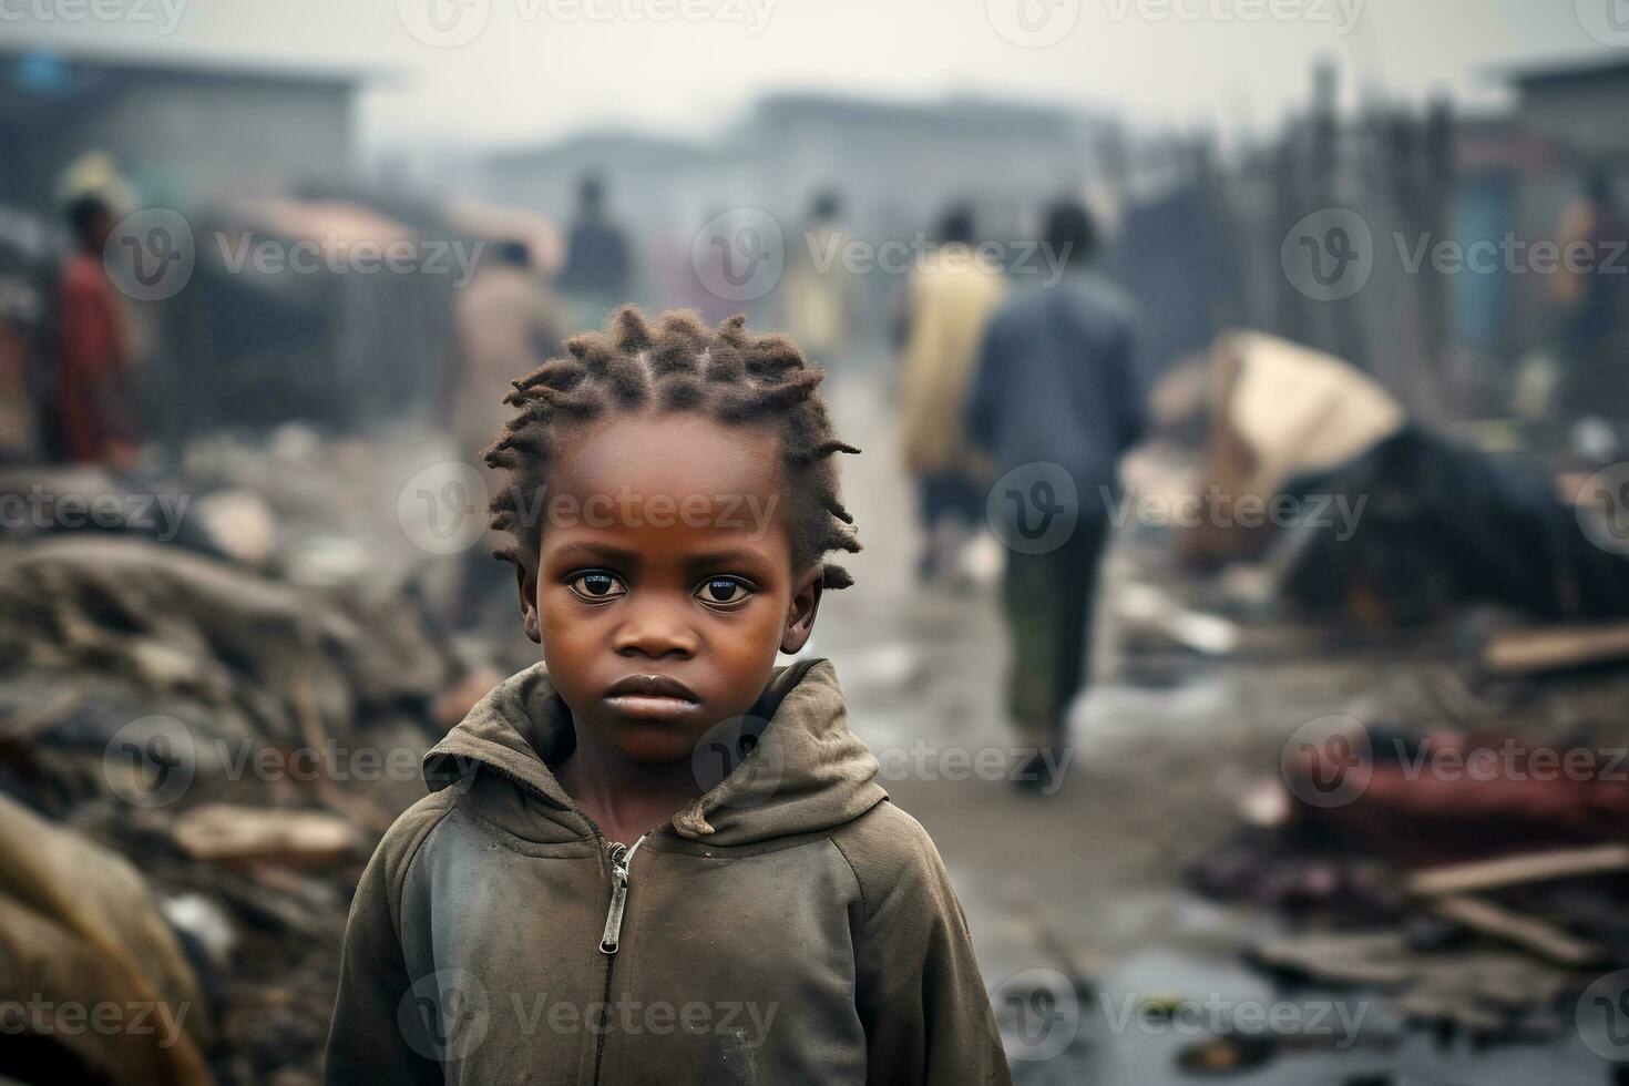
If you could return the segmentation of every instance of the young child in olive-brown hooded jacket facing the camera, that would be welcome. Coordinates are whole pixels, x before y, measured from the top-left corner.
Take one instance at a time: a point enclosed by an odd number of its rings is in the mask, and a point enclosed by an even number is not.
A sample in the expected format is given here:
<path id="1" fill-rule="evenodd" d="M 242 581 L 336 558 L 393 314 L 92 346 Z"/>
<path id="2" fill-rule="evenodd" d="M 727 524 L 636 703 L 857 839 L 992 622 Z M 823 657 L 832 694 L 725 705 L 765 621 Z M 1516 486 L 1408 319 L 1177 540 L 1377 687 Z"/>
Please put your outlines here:
<path id="1" fill-rule="evenodd" d="M 775 666 L 858 550 L 823 373 L 740 316 L 567 348 L 487 451 L 544 663 L 362 876 L 327 1081 L 1010 1081 L 933 842 L 832 666 Z"/>

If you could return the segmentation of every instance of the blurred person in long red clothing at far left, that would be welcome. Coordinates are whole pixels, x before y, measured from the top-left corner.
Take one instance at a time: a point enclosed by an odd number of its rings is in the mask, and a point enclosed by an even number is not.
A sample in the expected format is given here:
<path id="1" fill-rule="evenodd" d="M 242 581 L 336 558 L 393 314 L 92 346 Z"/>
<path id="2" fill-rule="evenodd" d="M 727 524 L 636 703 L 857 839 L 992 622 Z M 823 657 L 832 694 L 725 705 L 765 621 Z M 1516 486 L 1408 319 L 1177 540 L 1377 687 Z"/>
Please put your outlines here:
<path id="1" fill-rule="evenodd" d="M 103 262 L 114 215 L 99 195 L 80 195 L 65 217 L 73 254 L 60 282 L 57 440 L 64 459 L 127 469 L 137 415 L 129 329 Z"/>

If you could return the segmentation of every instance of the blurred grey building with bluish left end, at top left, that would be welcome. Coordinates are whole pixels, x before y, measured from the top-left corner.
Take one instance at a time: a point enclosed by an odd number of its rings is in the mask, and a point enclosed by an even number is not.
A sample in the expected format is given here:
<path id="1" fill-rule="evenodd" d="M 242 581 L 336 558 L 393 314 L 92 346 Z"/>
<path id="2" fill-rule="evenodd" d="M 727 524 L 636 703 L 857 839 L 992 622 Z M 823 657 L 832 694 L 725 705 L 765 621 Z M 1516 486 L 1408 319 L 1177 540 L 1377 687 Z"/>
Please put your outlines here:
<path id="1" fill-rule="evenodd" d="M 352 173 L 358 77 L 0 47 L 0 204 L 50 207 L 108 151 L 143 200 L 285 195 Z"/>

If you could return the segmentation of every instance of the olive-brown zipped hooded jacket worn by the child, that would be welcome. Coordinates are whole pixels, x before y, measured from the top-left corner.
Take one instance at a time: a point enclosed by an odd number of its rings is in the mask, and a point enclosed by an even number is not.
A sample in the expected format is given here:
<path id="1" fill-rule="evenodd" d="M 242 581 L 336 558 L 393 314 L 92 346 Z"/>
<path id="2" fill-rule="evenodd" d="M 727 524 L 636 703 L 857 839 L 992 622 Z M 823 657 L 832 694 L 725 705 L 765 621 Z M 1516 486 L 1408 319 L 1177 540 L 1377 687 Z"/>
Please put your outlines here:
<path id="1" fill-rule="evenodd" d="M 542 668 L 489 694 L 357 887 L 327 1081 L 1008 1083 L 945 866 L 832 666 L 777 669 L 746 720 L 626 848 L 549 772 L 573 731 Z"/>

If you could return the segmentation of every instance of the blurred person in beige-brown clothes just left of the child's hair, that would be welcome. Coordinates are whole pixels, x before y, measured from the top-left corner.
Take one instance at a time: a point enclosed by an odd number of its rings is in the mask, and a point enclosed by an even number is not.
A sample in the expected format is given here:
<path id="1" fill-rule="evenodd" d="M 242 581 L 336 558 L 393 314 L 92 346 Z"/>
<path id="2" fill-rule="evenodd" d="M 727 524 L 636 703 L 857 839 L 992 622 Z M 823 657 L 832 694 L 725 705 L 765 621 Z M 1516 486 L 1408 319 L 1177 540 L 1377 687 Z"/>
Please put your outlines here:
<path id="1" fill-rule="evenodd" d="M 531 373 L 542 358 L 559 353 L 565 339 L 560 308 L 533 270 L 526 244 L 505 241 L 458 291 L 453 316 L 461 355 L 450 397 L 453 438 L 459 459 L 476 466 L 489 495 L 495 495 L 503 474 L 485 466 L 482 451 L 513 414 L 503 402 L 512 383 Z M 515 606 L 515 578 L 489 550 L 477 545 L 466 552 L 456 607 L 459 625 L 466 628 L 489 617 L 507 622 Z"/>

